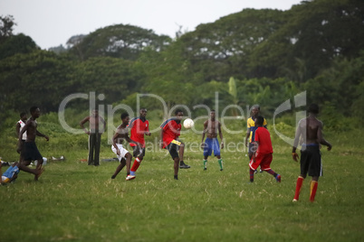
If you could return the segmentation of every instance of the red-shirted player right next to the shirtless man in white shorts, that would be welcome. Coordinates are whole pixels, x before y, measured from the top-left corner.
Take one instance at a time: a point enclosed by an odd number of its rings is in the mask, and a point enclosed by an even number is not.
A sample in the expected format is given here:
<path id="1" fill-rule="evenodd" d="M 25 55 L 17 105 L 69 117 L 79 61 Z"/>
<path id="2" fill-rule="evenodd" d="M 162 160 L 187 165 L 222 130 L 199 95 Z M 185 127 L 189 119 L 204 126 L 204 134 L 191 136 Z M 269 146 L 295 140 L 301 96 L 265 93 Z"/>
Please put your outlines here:
<path id="1" fill-rule="evenodd" d="M 147 108 L 140 108 L 139 117 L 131 119 L 128 126 L 130 128 L 130 138 L 141 145 L 138 146 L 137 144 L 130 143 L 130 146 L 133 148 L 133 156 L 136 157 L 130 169 L 130 180 L 135 178 L 135 172 L 137 172 L 139 165 L 146 154 L 144 135 L 151 135 L 149 132 L 149 121 L 146 116 Z"/>

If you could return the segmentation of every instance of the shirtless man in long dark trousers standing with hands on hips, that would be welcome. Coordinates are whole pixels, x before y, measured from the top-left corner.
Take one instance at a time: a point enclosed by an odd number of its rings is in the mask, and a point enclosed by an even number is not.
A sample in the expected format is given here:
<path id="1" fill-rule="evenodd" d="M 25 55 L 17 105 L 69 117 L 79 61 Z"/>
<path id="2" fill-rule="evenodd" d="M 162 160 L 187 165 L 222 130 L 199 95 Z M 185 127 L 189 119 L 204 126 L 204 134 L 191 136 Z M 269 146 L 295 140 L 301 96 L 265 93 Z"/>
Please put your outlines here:
<path id="1" fill-rule="evenodd" d="M 89 122 L 90 130 L 83 125 Z M 93 109 L 91 116 L 86 116 L 80 122 L 81 128 L 89 135 L 89 165 L 100 165 L 100 147 L 101 147 L 101 135 L 105 130 L 105 120 L 102 116 L 99 116 L 99 110 Z"/>

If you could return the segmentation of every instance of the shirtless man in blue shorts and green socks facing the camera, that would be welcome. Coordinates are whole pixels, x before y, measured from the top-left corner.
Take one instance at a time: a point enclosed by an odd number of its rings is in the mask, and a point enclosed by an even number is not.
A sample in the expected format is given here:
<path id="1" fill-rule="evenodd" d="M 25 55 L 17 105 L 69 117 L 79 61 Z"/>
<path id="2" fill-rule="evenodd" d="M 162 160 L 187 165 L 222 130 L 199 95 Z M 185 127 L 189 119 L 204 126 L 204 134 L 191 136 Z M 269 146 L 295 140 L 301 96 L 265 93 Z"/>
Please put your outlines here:
<path id="1" fill-rule="evenodd" d="M 221 124 L 216 120 L 216 111 L 213 109 L 210 112 L 210 118 L 204 123 L 204 131 L 202 133 L 201 148 L 204 149 L 204 171 L 207 170 L 207 157 L 210 156 L 213 151 L 216 158 L 218 159 L 217 162 L 220 165 L 220 171 L 224 170 L 223 159 L 221 159 L 220 155 L 220 144 L 218 143 L 217 139 L 217 132 L 220 136 L 221 148 L 223 149 L 224 141 L 223 133 L 221 132 Z M 207 137 L 204 143 L 205 134 L 207 134 Z"/>

